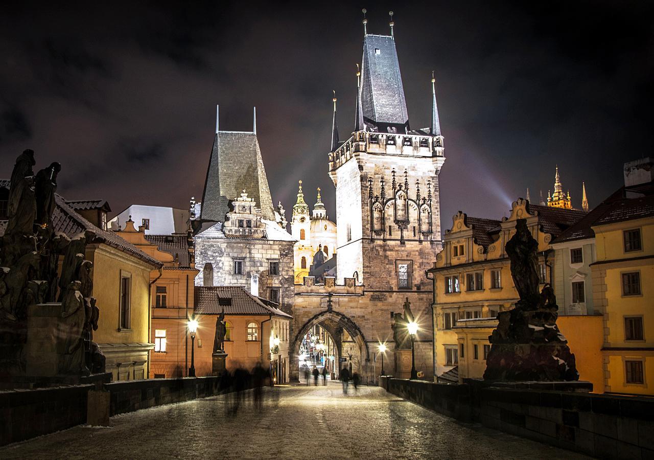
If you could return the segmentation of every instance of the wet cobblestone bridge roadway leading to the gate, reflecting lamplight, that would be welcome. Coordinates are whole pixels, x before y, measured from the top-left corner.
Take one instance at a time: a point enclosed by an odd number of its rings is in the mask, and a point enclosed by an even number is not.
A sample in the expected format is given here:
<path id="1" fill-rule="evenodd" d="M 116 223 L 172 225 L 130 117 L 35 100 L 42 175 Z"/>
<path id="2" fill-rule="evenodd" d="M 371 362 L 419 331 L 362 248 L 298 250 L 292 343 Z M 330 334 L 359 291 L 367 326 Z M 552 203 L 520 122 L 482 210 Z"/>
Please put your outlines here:
<path id="1" fill-rule="evenodd" d="M 379 387 L 266 389 L 235 416 L 212 397 L 111 418 L 0 448 L 0 459 L 578 459 L 576 453 L 463 425 Z"/>

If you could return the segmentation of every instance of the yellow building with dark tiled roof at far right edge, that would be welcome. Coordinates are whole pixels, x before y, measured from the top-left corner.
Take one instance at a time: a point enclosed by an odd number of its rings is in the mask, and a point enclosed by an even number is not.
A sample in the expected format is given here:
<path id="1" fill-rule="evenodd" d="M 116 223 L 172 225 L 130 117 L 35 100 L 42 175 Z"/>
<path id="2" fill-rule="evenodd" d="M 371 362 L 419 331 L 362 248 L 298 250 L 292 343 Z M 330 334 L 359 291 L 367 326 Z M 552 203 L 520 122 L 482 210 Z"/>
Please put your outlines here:
<path id="1" fill-rule="evenodd" d="M 597 251 L 591 266 L 593 300 L 604 316 L 604 385 L 611 393 L 654 395 L 651 166 L 649 158 L 625 164 L 625 187 L 600 205 L 602 213 L 592 226 Z"/>

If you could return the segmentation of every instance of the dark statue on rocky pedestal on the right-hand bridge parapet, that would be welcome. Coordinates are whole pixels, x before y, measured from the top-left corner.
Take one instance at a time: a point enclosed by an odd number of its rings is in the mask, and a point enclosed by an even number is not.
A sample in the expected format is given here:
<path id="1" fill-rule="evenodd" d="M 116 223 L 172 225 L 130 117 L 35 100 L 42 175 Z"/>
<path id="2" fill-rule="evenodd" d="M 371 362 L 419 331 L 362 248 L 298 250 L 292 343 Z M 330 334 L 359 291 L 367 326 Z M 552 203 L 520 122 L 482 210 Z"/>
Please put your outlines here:
<path id="1" fill-rule="evenodd" d="M 538 242 L 525 219 L 506 244 L 511 275 L 520 295 L 515 309 L 498 314 L 498 327 L 489 337 L 490 353 L 484 380 L 579 380 L 575 357 L 557 327 L 559 307 L 552 287 L 538 293 Z"/>

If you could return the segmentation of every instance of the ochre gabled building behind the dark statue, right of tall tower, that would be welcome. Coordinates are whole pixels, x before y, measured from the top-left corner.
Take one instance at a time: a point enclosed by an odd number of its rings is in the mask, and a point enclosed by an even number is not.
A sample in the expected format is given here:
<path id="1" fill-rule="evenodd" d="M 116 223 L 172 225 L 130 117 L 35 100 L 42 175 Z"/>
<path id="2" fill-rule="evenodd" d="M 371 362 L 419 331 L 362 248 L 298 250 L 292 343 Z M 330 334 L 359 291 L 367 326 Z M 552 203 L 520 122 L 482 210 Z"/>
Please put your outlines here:
<path id="1" fill-rule="evenodd" d="M 553 274 L 550 242 L 583 215 L 583 211 L 532 205 L 519 198 L 513 202 L 509 217 L 500 221 L 468 217 L 460 211 L 453 217 L 453 225 L 443 237 L 443 251 L 434 268 L 427 270 L 434 283 L 436 378 L 452 370 L 457 370 L 461 379 L 483 376 L 490 349 L 488 336 L 496 325 L 496 315 L 511 310 L 519 300 L 504 251 L 515 233 L 517 219 L 526 219 L 538 241 L 543 285 L 551 283 Z M 572 338 L 576 330 L 568 329 Z M 586 372 L 582 378 L 591 376 Z"/>

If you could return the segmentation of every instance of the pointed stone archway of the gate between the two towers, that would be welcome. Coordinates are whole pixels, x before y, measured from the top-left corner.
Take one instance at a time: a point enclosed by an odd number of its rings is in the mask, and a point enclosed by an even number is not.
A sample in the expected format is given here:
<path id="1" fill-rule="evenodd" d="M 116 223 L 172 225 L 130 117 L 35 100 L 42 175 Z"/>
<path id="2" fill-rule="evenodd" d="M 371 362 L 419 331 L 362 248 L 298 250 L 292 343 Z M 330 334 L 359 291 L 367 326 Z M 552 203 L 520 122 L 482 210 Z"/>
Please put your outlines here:
<path id="1" fill-rule="evenodd" d="M 347 365 L 351 364 L 353 372 L 364 373 L 366 366 L 370 363 L 370 349 L 368 349 L 368 342 L 364 337 L 361 329 L 346 315 L 334 310 L 324 310 L 317 313 L 304 323 L 298 330 L 292 346 L 290 357 L 290 376 L 292 380 L 298 380 L 300 373 L 300 344 L 305 337 L 315 326 L 320 326 L 329 334 L 332 342 L 334 342 L 334 357 L 336 369 L 330 369 L 338 378 L 339 370 L 341 368 L 340 358 L 347 359 Z"/>

